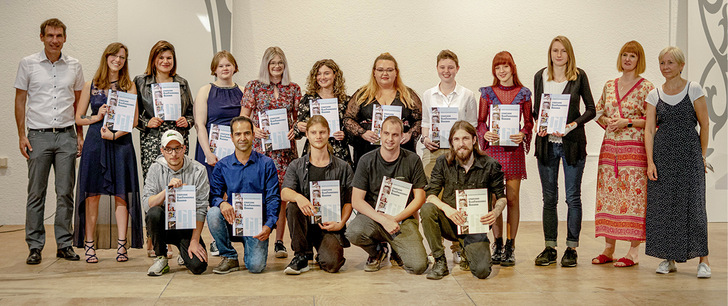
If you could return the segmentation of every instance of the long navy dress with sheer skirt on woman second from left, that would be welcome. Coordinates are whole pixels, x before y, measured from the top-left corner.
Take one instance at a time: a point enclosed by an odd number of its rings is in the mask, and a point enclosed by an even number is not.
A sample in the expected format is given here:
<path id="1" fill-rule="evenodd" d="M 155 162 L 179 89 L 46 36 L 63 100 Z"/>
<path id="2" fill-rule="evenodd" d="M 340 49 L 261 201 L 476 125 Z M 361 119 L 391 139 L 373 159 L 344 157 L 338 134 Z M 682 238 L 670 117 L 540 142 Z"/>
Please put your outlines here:
<path id="1" fill-rule="evenodd" d="M 117 89 L 117 83 L 111 83 Z M 90 89 L 89 106 L 91 115 L 99 113 L 106 104 L 108 90 L 100 90 L 93 84 Z M 136 153 L 131 133 L 106 140 L 101 138 L 103 120 L 93 123 L 86 130 L 86 137 L 78 165 L 78 188 L 76 190 L 76 217 L 73 245 L 83 247 L 86 231 L 86 198 L 109 195 L 126 201 L 131 218 L 131 247 L 141 248 L 142 208 L 139 191 L 139 174 L 136 167 Z"/>

